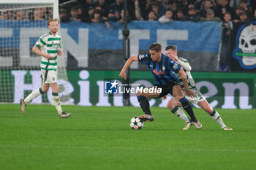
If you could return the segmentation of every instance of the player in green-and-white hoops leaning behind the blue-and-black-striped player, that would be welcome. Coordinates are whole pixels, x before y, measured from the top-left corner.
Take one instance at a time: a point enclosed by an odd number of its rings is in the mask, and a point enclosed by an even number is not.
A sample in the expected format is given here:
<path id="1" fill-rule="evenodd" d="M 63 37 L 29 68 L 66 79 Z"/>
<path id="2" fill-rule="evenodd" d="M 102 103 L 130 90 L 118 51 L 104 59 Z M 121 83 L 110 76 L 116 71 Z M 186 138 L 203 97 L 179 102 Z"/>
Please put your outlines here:
<path id="1" fill-rule="evenodd" d="M 173 61 L 176 61 L 176 63 L 178 63 L 178 65 L 181 66 L 181 68 L 184 69 L 184 72 L 187 74 L 187 80 L 188 80 L 189 88 L 195 93 L 194 98 L 192 98 L 190 96 L 187 96 L 186 93 L 184 93 L 184 95 L 186 96 L 188 101 L 192 102 L 194 104 L 197 104 L 199 107 L 201 107 L 206 112 L 208 112 L 208 114 L 219 124 L 219 126 L 223 130 L 232 131 L 233 129 L 227 127 L 225 125 L 225 123 L 223 123 L 222 117 L 220 117 L 219 113 L 216 110 L 214 110 L 210 106 L 210 104 L 208 104 L 208 101 L 206 100 L 206 98 L 204 98 L 202 93 L 200 93 L 200 91 L 197 90 L 197 88 L 195 86 L 195 81 L 193 80 L 193 77 L 190 74 L 191 66 L 189 65 L 189 62 L 186 59 L 178 58 L 176 46 L 174 46 L 174 45 L 167 46 L 165 48 L 165 53 Z M 178 79 L 181 79 L 181 77 L 178 74 L 177 74 L 177 77 L 178 77 Z M 179 81 L 179 82 L 181 82 L 181 88 L 184 90 L 184 85 L 182 85 L 182 81 Z M 190 123 L 190 120 L 184 114 L 182 109 L 179 108 L 179 107 L 181 107 L 181 103 L 176 98 L 171 98 L 167 102 L 167 107 L 168 107 L 168 109 L 170 109 L 171 112 L 173 112 L 175 115 L 177 115 L 178 117 L 180 117 L 182 120 L 185 121 L 186 125 L 183 128 L 183 130 L 188 130 L 189 127 L 192 125 L 192 123 Z"/>

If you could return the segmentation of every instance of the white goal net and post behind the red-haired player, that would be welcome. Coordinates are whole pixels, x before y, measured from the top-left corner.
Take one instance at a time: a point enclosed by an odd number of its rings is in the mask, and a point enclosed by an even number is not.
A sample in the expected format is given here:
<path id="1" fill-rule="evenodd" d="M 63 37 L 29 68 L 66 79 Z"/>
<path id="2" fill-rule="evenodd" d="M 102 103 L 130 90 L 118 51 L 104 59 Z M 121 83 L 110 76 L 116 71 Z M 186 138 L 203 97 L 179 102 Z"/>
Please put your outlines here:
<path id="1" fill-rule="evenodd" d="M 19 103 L 20 98 L 41 87 L 41 56 L 31 49 L 39 36 L 49 31 L 50 18 L 59 18 L 58 0 L 0 1 L 0 103 Z M 72 102 L 65 83 L 68 82 L 66 66 L 64 57 L 58 57 L 61 103 Z M 50 89 L 32 101 L 48 102 L 52 102 Z"/>

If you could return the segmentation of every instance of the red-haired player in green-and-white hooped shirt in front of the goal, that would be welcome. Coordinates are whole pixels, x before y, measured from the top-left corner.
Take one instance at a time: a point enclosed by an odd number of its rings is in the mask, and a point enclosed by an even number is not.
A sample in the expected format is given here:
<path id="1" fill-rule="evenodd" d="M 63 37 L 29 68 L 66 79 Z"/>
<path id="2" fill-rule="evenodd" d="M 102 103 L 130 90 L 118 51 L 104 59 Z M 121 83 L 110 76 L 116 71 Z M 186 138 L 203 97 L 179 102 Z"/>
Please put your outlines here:
<path id="1" fill-rule="evenodd" d="M 59 117 L 66 118 L 69 117 L 71 113 L 65 113 L 61 109 L 59 85 L 57 84 L 57 56 L 62 55 L 61 36 L 57 34 L 59 30 L 59 21 L 57 19 L 48 20 L 48 28 L 50 32 L 40 36 L 32 49 L 34 53 L 42 56 L 40 65 L 42 72 L 42 87 L 33 90 L 26 98 L 20 99 L 20 109 L 24 114 L 26 104 L 31 102 L 31 100 L 37 96 L 48 92 L 50 87 L 53 91 L 53 104 L 59 113 Z"/>

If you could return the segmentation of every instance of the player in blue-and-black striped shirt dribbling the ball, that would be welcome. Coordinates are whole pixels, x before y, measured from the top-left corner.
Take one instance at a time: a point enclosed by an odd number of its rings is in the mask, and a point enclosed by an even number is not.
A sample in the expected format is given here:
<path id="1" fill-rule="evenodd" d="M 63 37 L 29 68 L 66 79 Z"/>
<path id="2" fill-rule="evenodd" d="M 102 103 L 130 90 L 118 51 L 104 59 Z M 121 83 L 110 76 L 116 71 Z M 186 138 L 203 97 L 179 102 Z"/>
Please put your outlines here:
<path id="1" fill-rule="evenodd" d="M 130 57 L 125 63 L 123 69 L 121 70 L 119 76 L 126 80 L 126 71 L 127 68 L 134 61 L 139 61 L 140 63 L 145 63 L 148 66 L 148 69 L 151 71 L 151 74 L 154 77 L 155 86 L 151 88 L 161 88 L 162 92 L 159 93 L 157 90 L 153 90 L 153 93 L 138 92 L 136 94 L 140 107 L 145 113 L 141 115 L 140 118 L 144 121 L 153 121 L 154 116 L 151 114 L 149 102 L 147 98 L 162 98 L 170 93 L 173 97 L 177 98 L 181 102 L 182 107 L 188 113 L 191 118 L 192 123 L 195 124 L 196 128 L 202 128 L 202 124 L 197 120 L 192 110 L 189 101 L 184 96 L 181 85 L 178 82 L 178 78 L 174 73 L 181 74 L 182 81 L 184 82 L 184 87 L 187 93 L 187 96 L 195 96 L 195 93 L 189 89 L 187 83 L 187 77 L 183 69 L 166 55 L 162 54 L 162 47 L 158 43 L 154 43 L 149 47 L 149 53 L 146 55 L 135 55 Z M 149 91 L 150 88 L 148 88 Z M 151 90 L 152 91 L 152 90 Z"/>

